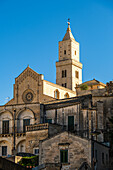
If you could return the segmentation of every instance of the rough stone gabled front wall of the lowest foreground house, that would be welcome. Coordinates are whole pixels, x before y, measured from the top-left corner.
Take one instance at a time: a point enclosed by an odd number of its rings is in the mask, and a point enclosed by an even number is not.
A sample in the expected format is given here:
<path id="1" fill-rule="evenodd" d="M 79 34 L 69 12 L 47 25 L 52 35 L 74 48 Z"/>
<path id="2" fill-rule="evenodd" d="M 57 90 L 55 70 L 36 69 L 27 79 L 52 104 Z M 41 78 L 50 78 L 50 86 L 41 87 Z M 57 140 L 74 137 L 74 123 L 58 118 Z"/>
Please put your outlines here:
<path id="1" fill-rule="evenodd" d="M 68 132 L 63 132 L 50 139 L 40 141 L 39 148 L 39 165 L 44 163 L 60 163 L 60 150 L 65 149 L 68 150 L 70 169 L 79 168 L 85 161 L 91 164 L 90 141 Z"/>

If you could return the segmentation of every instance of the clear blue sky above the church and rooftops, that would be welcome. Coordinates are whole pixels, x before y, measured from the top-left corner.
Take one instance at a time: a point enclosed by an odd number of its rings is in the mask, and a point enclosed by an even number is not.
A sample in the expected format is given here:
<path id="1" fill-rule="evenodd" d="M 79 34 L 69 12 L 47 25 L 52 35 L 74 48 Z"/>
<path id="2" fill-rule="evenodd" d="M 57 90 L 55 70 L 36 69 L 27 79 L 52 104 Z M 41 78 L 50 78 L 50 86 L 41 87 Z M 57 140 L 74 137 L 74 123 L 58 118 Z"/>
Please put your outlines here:
<path id="1" fill-rule="evenodd" d="M 83 81 L 113 80 L 112 0 L 0 0 L 0 105 L 29 64 L 55 83 L 58 41 L 70 18 L 80 43 Z"/>

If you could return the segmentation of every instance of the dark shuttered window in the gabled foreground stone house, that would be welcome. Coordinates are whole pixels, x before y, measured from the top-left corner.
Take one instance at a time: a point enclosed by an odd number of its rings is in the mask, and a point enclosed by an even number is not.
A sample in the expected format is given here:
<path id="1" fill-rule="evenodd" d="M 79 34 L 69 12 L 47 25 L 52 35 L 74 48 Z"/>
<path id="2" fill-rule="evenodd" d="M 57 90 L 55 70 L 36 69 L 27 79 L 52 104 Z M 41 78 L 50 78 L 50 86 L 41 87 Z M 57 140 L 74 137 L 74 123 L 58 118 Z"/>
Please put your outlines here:
<path id="1" fill-rule="evenodd" d="M 68 162 L 68 150 L 60 150 L 60 162 L 61 163 Z"/>

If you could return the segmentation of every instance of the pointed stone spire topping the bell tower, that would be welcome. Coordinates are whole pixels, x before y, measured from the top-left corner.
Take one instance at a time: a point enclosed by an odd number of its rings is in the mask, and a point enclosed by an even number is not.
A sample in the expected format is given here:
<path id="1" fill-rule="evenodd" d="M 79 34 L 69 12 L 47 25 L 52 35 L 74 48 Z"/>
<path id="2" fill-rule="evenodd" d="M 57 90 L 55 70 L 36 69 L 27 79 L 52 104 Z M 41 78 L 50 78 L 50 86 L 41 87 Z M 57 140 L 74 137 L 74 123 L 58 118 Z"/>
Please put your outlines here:
<path id="1" fill-rule="evenodd" d="M 68 18 L 68 28 L 67 28 L 67 32 L 66 32 L 66 34 L 65 34 L 65 36 L 64 36 L 64 38 L 63 38 L 63 41 L 65 41 L 65 40 L 75 40 L 74 39 L 74 37 L 73 37 L 73 35 L 72 35 L 72 33 L 71 33 L 71 28 L 70 28 L 70 19 Z"/>

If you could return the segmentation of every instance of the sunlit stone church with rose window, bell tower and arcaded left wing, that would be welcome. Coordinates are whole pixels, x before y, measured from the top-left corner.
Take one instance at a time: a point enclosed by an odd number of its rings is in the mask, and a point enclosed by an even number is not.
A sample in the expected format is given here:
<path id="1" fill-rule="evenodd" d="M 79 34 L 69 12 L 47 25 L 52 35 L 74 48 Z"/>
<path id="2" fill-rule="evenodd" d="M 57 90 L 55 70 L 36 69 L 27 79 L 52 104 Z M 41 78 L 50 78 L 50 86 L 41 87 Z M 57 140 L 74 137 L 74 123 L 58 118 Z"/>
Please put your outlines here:
<path id="1" fill-rule="evenodd" d="M 40 123 L 40 103 L 76 96 L 73 89 L 77 82 L 76 79 L 78 83 L 82 81 L 82 64 L 79 63 L 79 44 L 75 42 L 74 38 L 72 40 L 72 37 L 68 24 L 67 33 L 59 48 L 62 46 L 63 53 L 69 49 L 74 51 L 74 58 L 71 51 L 69 56 L 68 54 L 62 56 L 63 60 L 60 58 L 61 54 L 59 54 L 59 62 L 56 64 L 57 84 L 44 80 L 42 74 L 36 73 L 29 66 L 15 79 L 13 99 L 4 106 L 0 106 L 0 155 L 11 155 L 15 148 L 17 152 L 25 151 L 25 127 Z M 68 58 L 66 58 L 67 56 Z M 62 64 L 59 65 L 59 63 Z M 72 68 L 74 68 L 73 71 Z M 80 72 L 78 73 L 79 76 L 73 79 L 73 74 L 77 69 Z M 59 80 L 62 80 L 61 84 Z"/>

